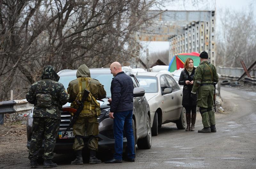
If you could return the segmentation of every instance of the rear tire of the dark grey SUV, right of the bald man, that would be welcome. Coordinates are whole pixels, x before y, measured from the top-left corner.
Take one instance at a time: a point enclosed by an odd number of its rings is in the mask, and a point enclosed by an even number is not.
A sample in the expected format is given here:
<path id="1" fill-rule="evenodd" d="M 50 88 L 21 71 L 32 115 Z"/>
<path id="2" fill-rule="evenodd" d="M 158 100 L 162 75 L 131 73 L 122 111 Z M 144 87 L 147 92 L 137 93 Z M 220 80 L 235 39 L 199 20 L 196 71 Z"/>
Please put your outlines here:
<path id="1" fill-rule="evenodd" d="M 150 149 L 152 146 L 152 134 L 149 116 L 147 117 L 147 136 L 138 140 L 137 146 L 139 149 Z"/>

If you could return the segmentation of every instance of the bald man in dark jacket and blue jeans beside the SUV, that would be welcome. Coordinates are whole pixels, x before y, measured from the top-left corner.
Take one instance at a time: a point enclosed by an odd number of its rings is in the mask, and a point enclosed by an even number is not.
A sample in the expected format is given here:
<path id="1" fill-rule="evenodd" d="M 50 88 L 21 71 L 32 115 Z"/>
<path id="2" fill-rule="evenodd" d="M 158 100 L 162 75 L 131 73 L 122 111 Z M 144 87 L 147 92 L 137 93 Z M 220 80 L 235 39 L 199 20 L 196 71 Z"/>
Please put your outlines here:
<path id="1" fill-rule="evenodd" d="M 114 78 L 111 82 L 111 99 L 109 117 L 114 119 L 113 130 L 115 137 L 114 158 L 105 163 L 122 163 L 123 154 L 123 130 L 127 139 L 127 161 L 135 161 L 134 138 L 132 129 L 132 110 L 133 110 L 133 82 L 132 78 L 122 71 L 119 62 L 110 65 L 111 73 Z"/>

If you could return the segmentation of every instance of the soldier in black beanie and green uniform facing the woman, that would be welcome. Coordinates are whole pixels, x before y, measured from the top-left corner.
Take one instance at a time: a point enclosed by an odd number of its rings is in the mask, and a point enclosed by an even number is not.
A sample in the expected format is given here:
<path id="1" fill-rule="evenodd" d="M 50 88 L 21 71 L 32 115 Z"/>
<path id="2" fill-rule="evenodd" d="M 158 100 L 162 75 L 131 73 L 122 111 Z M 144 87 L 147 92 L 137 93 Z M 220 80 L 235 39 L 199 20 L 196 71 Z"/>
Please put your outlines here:
<path id="1" fill-rule="evenodd" d="M 202 116 L 204 128 L 198 133 L 216 132 L 215 115 L 212 111 L 214 86 L 213 82 L 218 82 L 219 77 L 216 68 L 208 62 L 207 52 L 200 54 L 200 64 L 195 70 L 194 85 L 191 93 L 197 93 L 197 107 Z"/>

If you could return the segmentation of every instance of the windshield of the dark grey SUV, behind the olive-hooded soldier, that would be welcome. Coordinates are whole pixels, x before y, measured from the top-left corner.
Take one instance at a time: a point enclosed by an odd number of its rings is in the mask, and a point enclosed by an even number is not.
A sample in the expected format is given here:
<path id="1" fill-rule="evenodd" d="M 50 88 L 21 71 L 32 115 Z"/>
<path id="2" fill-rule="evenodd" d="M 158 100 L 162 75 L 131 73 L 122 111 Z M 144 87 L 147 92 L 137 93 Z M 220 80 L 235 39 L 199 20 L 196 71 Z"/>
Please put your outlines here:
<path id="1" fill-rule="evenodd" d="M 93 79 L 97 79 L 100 81 L 102 85 L 104 85 L 104 89 L 107 92 L 106 97 L 111 97 L 111 92 L 110 92 L 110 86 L 111 86 L 111 81 L 113 78 L 113 75 L 111 73 L 105 73 L 105 74 L 91 74 L 91 77 Z M 65 87 L 65 89 L 68 89 L 68 84 L 72 80 L 76 79 L 76 75 L 74 76 L 61 76 L 59 82 L 62 83 Z"/>

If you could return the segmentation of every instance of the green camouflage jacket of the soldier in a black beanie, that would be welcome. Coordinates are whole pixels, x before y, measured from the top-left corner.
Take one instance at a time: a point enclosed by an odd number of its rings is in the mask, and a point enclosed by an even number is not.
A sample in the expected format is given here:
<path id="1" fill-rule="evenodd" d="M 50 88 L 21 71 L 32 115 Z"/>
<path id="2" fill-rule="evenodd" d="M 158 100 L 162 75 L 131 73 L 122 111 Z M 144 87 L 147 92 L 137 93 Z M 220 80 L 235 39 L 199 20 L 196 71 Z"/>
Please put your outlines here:
<path id="1" fill-rule="evenodd" d="M 210 67 L 211 70 L 208 68 L 207 65 Z M 195 70 L 192 93 L 196 93 L 197 89 L 200 87 L 201 84 L 212 84 L 213 82 L 218 81 L 219 77 L 215 66 L 208 61 L 203 61 L 199 64 L 199 66 L 197 66 Z"/>

